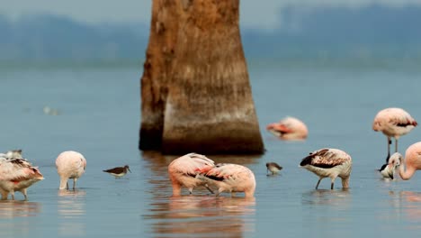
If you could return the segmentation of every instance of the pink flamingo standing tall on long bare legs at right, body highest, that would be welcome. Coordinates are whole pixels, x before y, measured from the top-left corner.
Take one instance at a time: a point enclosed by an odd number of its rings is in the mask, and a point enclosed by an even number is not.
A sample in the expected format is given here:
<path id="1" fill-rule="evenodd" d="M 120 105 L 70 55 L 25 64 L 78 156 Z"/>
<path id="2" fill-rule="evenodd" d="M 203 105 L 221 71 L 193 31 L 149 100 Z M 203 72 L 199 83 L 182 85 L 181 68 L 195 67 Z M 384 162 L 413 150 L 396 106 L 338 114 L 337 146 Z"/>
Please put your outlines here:
<path id="1" fill-rule="evenodd" d="M 381 132 L 388 138 L 388 157 L 386 162 L 390 158 L 391 138 L 395 138 L 395 152 L 398 152 L 399 137 L 409 133 L 416 126 L 417 121 L 401 108 L 390 107 L 376 114 L 372 123 L 372 130 Z"/>

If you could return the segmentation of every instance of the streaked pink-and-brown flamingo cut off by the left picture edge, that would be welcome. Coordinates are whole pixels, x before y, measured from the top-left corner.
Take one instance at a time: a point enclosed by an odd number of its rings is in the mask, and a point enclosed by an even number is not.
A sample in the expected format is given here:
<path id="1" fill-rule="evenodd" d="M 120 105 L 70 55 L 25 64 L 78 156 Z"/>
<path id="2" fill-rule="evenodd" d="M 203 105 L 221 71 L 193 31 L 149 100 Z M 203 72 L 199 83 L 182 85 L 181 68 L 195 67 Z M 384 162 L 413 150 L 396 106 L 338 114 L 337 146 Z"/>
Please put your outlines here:
<path id="1" fill-rule="evenodd" d="M 19 152 L 19 155 L 22 151 Z M 14 192 L 19 191 L 28 199 L 27 188 L 32 184 L 44 179 L 40 170 L 33 167 L 28 160 L 22 158 L 11 158 L 6 152 L 6 156 L 0 156 L 0 193 L 2 199 L 6 200 L 9 193 L 14 200 Z"/>

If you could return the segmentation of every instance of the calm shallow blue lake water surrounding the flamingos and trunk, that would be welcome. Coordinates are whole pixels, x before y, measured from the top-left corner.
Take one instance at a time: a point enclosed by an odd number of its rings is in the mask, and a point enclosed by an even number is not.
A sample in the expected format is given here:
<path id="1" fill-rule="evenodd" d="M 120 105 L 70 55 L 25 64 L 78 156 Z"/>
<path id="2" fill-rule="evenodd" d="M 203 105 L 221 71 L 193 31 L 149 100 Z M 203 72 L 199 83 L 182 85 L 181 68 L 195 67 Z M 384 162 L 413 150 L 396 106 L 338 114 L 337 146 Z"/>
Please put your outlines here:
<path id="1" fill-rule="evenodd" d="M 421 120 L 421 70 L 393 63 L 309 64 L 249 60 L 249 74 L 266 152 L 261 156 L 209 155 L 255 172 L 255 198 L 212 197 L 206 189 L 171 197 L 167 165 L 176 156 L 139 151 L 141 64 L 1 66 L 0 151 L 22 149 L 45 179 L 28 201 L 0 202 L 1 237 L 392 237 L 421 231 L 421 175 L 384 180 L 379 169 L 386 138 L 372 131 L 385 107 Z M 51 108 L 58 115 L 44 113 Z M 57 110 L 57 111 L 56 111 Z M 264 131 L 286 115 L 309 127 L 305 142 L 282 142 Z M 421 141 L 414 129 L 399 151 Z M 350 188 L 330 190 L 299 168 L 320 148 L 353 158 Z M 76 190 L 58 191 L 55 159 L 61 151 L 85 155 Z M 283 169 L 267 176 L 265 163 Z M 113 178 L 103 169 L 130 165 Z"/>

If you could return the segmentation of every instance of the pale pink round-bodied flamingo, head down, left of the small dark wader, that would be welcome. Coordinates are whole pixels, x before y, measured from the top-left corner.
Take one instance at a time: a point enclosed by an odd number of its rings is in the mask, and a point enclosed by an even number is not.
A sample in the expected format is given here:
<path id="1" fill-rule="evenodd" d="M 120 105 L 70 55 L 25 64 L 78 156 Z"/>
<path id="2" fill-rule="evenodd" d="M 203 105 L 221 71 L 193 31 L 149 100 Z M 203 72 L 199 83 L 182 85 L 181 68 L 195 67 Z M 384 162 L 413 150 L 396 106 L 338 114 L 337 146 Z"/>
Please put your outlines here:
<path id="1" fill-rule="evenodd" d="M 79 152 L 64 151 L 58 155 L 56 167 L 60 177 L 59 189 L 68 189 L 67 180 L 73 178 L 73 189 L 75 190 L 77 178 L 80 178 L 85 172 L 86 160 Z"/>

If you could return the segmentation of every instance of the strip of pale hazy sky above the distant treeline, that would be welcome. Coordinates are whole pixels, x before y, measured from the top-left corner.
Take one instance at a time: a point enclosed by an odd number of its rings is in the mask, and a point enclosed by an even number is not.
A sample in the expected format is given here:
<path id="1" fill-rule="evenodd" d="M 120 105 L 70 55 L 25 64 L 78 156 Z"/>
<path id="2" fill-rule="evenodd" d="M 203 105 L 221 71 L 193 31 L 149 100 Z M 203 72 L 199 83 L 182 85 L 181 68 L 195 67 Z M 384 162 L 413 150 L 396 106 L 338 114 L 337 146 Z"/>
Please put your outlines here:
<path id="1" fill-rule="evenodd" d="M 151 2 L 152 0 L 0 0 L 0 14 L 12 18 L 22 14 L 60 14 L 84 23 L 149 23 Z M 421 5 L 421 0 L 240 0 L 240 21 L 243 27 L 273 29 L 282 26 L 278 14 L 282 13 L 282 7 L 288 5 L 361 7 L 374 3 L 399 7 L 408 4 Z"/>

